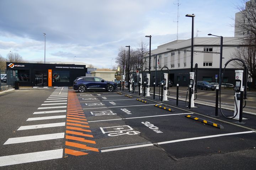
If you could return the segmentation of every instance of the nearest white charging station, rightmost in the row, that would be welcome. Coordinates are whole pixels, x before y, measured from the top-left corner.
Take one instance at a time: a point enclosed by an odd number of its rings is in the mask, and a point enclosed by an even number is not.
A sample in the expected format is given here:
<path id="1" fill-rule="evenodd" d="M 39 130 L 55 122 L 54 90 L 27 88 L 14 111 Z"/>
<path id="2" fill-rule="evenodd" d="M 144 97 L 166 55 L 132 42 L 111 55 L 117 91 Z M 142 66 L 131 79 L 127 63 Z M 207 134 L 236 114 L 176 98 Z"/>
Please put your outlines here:
<path id="1" fill-rule="evenodd" d="M 240 114 L 240 98 L 243 96 L 240 96 L 240 92 L 244 91 L 242 88 L 242 79 L 243 79 L 243 72 L 244 70 L 235 70 L 235 106 L 234 106 L 234 116 L 235 119 L 239 119 Z M 246 88 L 246 87 L 245 87 Z M 237 108 L 237 110 L 236 110 Z M 236 114 L 237 112 L 237 114 Z"/>

